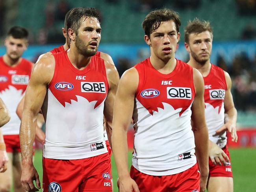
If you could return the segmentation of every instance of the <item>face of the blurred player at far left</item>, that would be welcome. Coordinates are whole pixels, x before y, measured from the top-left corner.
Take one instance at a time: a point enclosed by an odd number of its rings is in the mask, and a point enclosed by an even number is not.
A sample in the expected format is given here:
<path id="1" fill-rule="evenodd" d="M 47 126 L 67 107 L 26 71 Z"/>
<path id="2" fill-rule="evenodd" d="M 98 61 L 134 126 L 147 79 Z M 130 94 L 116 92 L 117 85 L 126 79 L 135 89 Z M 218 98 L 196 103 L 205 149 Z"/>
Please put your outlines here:
<path id="1" fill-rule="evenodd" d="M 5 41 L 6 55 L 12 60 L 18 60 L 27 49 L 26 39 L 15 39 L 8 36 Z"/>

